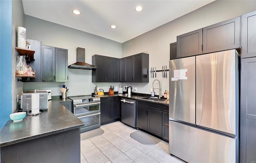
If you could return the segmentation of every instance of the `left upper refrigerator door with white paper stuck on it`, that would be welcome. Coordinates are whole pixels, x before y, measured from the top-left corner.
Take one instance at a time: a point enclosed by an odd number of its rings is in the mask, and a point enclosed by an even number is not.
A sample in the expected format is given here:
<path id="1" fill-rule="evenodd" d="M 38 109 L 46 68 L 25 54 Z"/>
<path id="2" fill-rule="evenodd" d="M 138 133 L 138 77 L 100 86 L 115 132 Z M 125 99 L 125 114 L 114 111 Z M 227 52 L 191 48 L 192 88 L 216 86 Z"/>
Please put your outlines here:
<path id="1" fill-rule="evenodd" d="M 169 118 L 196 124 L 196 84 L 195 70 L 196 58 L 187 57 L 182 59 L 170 60 L 169 71 Z M 182 76 L 178 79 L 177 72 L 182 74 L 187 70 L 187 79 Z M 174 74 L 175 71 L 175 74 Z"/>

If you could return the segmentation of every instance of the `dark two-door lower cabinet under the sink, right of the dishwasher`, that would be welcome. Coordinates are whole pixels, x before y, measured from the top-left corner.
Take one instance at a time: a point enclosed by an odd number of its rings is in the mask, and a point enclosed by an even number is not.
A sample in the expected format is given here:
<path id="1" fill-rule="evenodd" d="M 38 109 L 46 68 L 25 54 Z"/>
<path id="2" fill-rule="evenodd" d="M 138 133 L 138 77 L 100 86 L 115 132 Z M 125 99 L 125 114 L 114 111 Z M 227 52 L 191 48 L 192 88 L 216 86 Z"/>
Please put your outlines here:
<path id="1" fill-rule="evenodd" d="M 162 137 L 162 105 L 152 102 L 137 102 L 137 127 Z"/>

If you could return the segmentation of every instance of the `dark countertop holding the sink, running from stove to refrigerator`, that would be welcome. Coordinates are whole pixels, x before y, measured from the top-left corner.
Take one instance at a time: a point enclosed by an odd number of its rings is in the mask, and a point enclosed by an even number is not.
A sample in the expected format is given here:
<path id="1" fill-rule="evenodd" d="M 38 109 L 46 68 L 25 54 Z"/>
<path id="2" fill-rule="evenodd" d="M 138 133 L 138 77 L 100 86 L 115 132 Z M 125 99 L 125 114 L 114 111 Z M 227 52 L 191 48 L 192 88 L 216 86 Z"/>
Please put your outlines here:
<path id="1" fill-rule="evenodd" d="M 141 100 L 141 101 L 146 101 L 146 102 L 154 102 L 154 103 L 157 103 L 157 104 L 164 104 L 164 105 L 168 105 L 169 106 L 169 100 L 164 102 L 164 100 L 161 100 L 161 101 L 156 101 L 156 100 L 147 100 L 147 99 L 143 99 L 143 98 L 146 98 L 146 97 L 150 97 L 150 95 L 125 95 L 125 94 L 105 94 L 104 96 L 98 96 L 98 97 L 101 97 L 101 98 L 105 98 L 105 97 L 113 97 L 113 96 L 119 96 L 119 97 L 122 97 L 122 98 L 128 98 L 128 99 L 131 99 L 131 100 Z"/>

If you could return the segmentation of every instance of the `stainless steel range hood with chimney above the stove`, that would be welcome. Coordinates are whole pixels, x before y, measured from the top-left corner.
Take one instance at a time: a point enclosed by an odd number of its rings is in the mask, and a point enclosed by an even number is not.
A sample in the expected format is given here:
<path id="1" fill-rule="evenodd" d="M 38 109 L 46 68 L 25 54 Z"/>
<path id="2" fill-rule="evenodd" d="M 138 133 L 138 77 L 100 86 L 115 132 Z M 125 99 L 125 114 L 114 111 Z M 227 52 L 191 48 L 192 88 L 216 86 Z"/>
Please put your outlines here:
<path id="1" fill-rule="evenodd" d="M 85 49 L 78 47 L 76 49 L 76 63 L 68 66 L 69 69 L 84 69 L 92 70 L 97 69 L 96 66 L 85 63 Z"/>

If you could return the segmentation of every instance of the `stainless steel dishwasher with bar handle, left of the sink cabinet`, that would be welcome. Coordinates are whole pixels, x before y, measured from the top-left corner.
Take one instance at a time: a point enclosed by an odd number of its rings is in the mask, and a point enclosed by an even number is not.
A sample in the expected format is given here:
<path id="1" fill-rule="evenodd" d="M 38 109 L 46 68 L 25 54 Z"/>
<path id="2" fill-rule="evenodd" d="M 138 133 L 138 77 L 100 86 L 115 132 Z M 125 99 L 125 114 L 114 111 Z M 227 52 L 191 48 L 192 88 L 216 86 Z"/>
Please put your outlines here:
<path id="1" fill-rule="evenodd" d="M 121 98 L 121 121 L 128 126 L 136 128 L 136 100 Z"/>

